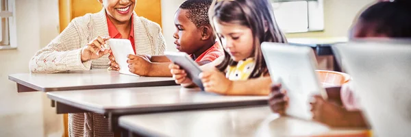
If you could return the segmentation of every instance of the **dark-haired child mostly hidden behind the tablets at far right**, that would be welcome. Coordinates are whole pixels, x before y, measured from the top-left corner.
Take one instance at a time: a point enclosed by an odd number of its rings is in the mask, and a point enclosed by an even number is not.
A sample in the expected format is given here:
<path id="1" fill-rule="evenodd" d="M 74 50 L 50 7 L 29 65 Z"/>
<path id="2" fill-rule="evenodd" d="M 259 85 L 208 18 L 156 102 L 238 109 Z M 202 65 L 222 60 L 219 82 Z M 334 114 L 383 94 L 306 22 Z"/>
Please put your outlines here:
<path id="1" fill-rule="evenodd" d="M 371 5 L 354 23 L 351 37 L 411 38 L 411 22 L 408 21 L 411 18 L 410 5 L 411 2 L 406 0 L 383 1 Z M 314 121 L 332 127 L 369 127 L 353 90 L 351 84 L 345 84 L 342 88 L 327 88 L 327 101 L 314 96 L 311 103 Z M 273 112 L 284 114 L 287 103 L 286 90 L 281 89 L 281 84 L 274 84 L 269 99 Z"/>

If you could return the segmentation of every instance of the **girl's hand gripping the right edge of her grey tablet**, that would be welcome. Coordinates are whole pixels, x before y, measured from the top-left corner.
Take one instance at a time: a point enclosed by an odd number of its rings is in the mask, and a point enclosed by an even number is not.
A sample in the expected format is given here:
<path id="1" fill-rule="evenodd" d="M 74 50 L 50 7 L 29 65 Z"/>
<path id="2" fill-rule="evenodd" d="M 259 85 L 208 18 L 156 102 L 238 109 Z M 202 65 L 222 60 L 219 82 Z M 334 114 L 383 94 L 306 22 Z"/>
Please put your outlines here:
<path id="1" fill-rule="evenodd" d="M 200 73 L 199 77 L 201 82 L 203 82 L 204 90 L 208 92 L 227 95 L 229 90 L 232 89 L 233 82 L 227 79 L 227 77 L 217 69 L 203 71 L 203 73 Z"/>

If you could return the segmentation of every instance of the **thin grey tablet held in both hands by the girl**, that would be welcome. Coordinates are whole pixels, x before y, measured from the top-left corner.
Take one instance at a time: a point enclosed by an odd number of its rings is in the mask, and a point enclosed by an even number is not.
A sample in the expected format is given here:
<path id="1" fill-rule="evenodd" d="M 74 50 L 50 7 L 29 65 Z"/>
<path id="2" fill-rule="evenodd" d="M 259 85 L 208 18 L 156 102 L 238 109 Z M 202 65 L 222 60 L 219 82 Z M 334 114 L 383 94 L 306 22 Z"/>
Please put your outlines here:
<path id="1" fill-rule="evenodd" d="M 181 66 L 182 69 L 188 73 L 188 77 L 192 79 L 192 82 L 199 86 L 201 90 L 204 90 L 203 82 L 201 82 L 201 79 L 199 78 L 199 74 L 203 71 L 201 71 L 200 66 L 194 62 L 187 53 L 166 51 L 164 54 L 172 62 Z"/>

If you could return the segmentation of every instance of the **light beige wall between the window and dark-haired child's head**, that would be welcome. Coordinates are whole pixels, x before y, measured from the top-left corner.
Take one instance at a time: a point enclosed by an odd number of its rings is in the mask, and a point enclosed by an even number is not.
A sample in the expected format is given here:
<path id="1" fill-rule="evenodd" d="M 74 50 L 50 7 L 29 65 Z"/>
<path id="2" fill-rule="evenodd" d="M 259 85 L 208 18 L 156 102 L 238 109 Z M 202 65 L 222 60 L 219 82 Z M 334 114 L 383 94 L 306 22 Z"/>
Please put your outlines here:
<path id="1" fill-rule="evenodd" d="M 287 38 L 345 37 L 359 12 L 375 0 L 324 0 L 324 31 L 287 34 Z"/>

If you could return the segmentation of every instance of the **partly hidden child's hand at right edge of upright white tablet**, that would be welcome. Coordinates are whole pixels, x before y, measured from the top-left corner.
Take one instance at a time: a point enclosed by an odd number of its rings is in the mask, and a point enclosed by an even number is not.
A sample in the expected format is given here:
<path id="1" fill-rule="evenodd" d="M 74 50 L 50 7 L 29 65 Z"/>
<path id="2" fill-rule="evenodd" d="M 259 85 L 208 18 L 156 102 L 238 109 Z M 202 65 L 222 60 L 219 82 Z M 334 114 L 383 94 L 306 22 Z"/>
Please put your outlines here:
<path id="1" fill-rule="evenodd" d="M 325 101 L 320 95 L 315 95 L 314 100 L 310 102 L 312 119 L 332 127 L 338 127 L 343 125 L 343 121 L 349 121 L 349 119 L 344 119 L 345 112 L 344 108 Z"/>

